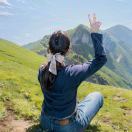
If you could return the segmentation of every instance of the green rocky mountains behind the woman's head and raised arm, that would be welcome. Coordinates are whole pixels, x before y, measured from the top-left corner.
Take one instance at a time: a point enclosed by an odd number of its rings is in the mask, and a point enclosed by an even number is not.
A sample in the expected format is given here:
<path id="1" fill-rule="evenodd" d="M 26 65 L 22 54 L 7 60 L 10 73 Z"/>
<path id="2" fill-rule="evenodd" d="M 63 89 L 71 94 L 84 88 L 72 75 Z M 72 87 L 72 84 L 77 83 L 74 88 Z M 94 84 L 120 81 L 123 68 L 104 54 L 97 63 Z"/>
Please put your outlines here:
<path id="1" fill-rule="evenodd" d="M 72 48 L 71 53 L 66 57 L 68 64 L 82 63 L 94 57 L 92 40 L 87 26 L 80 24 L 66 32 L 70 37 Z M 87 81 L 132 88 L 131 52 L 128 52 L 127 47 L 122 46 L 124 44 L 121 45 L 122 41 L 108 34 L 107 30 L 102 31 L 102 33 L 104 34 L 103 43 L 108 62 L 105 67 Z M 42 40 L 27 44 L 24 47 L 46 56 L 49 37 L 49 35 L 46 35 Z"/>

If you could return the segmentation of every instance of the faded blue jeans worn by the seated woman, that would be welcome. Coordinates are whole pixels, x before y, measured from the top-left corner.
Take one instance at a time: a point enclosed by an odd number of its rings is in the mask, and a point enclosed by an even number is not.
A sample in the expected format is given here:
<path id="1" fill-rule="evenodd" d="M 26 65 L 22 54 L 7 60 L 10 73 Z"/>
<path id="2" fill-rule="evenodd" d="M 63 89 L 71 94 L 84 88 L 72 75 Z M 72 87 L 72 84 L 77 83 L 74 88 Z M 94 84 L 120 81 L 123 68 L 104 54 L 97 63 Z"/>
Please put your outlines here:
<path id="1" fill-rule="evenodd" d="M 40 116 L 40 125 L 44 132 L 83 132 L 102 106 L 103 96 L 92 92 L 77 104 L 76 115 L 68 125 L 61 126 L 46 115 Z"/>

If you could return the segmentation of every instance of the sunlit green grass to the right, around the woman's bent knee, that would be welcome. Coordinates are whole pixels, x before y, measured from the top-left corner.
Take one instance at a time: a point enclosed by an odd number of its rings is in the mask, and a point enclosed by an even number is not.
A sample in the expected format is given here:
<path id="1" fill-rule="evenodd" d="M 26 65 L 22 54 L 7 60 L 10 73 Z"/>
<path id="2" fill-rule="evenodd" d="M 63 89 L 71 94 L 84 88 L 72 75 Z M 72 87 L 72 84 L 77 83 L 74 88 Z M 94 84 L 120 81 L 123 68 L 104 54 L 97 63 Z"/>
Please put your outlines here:
<path id="1" fill-rule="evenodd" d="M 78 96 L 83 99 L 93 91 L 104 95 L 104 106 L 92 123 L 97 124 L 100 131 L 132 131 L 132 91 L 84 82 L 79 87 Z"/>

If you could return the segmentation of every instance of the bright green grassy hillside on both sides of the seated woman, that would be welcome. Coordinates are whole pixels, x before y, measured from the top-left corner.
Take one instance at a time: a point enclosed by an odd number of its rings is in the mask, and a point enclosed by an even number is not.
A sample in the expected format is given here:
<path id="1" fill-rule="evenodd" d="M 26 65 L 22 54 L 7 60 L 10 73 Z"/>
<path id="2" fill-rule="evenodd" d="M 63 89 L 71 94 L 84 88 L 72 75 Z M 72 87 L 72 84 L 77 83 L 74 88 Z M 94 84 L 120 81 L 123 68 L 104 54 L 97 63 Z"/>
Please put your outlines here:
<path id="1" fill-rule="evenodd" d="M 0 40 L 0 119 L 12 110 L 17 119 L 38 121 L 43 96 L 37 80 L 39 65 L 46 58 L 13 43 Z M 88 131 L 132 131 L 132 91 L 83 82 L 78 98 L 92 91 L 104 95 L 104 106 Z"/>

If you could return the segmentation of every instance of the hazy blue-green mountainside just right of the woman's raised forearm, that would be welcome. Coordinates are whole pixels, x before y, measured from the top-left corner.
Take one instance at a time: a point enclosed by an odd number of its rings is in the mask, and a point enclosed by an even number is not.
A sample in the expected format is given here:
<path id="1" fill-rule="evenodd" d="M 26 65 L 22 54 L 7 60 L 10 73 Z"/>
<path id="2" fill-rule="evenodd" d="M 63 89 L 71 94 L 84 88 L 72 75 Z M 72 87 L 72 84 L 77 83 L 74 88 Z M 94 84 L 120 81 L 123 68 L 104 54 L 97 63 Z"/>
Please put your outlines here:
<path id="1" fill-rule="evenodd" d="M 122 45 L 122 42 L 115 37 L 104 33 L 104 45 L 109 56 L 107 67 L 128 82 L 132 82 L 132 60 L 131 51 Z"/>

